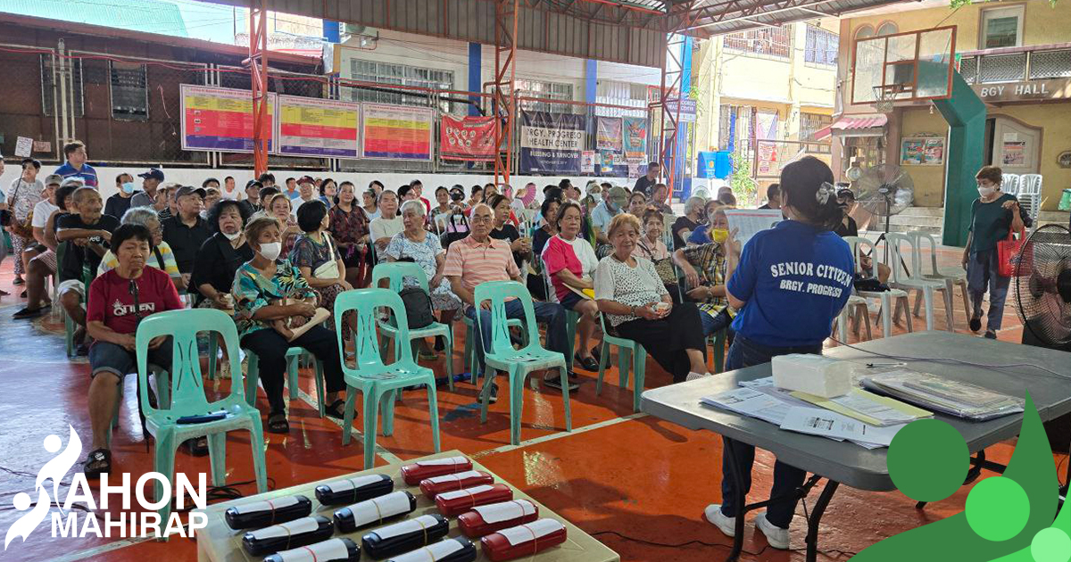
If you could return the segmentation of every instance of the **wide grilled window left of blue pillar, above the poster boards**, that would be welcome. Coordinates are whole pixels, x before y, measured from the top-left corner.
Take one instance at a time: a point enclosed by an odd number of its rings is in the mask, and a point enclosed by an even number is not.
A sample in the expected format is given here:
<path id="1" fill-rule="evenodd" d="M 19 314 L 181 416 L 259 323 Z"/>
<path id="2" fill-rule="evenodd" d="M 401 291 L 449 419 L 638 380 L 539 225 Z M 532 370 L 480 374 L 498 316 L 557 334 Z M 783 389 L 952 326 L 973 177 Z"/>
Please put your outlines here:
<path id="1" fill-rule="evenodd" d="M 417 86 L 432 90 L 453 90 L 454 73 L 435 69 L 421 69 L 407 64 L 350 59 L 350 78 L 365 82 Z M 423 94 L 405 93 L 401 90 L 350 88 L 350 101 L 375 102 L 377 104 L 417 105 L 427 107 L 428 97 Z M 442 102 L 440 109 L 450 111 L 450 102 Z"/>

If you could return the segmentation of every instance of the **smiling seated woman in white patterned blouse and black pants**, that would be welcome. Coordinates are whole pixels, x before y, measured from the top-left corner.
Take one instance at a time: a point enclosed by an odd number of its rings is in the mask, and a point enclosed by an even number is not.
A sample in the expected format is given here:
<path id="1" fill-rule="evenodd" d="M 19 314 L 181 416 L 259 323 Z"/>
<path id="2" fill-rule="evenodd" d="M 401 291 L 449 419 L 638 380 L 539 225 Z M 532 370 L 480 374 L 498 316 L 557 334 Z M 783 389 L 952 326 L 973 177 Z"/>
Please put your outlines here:
<path id="1" fill-rule="evenodd" d="M 643 344 L 674 382 L 705 376 L 699 312 L 692 303 L 674 305 L 650 260 L 632 255 L 639 219 L 631 214 L 615 216 L 607 234 L 614 253 L 599 262 L 594 289 L 609 326 Z"/>

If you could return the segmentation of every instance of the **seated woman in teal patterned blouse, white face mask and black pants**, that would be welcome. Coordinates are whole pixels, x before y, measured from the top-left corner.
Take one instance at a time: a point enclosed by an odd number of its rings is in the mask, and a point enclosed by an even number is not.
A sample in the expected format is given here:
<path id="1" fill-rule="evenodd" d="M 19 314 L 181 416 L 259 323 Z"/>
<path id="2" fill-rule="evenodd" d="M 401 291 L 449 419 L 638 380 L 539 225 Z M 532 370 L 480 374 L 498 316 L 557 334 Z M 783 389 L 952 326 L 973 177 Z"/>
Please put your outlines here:
<path id="1" fill-rule="evenodd" d="M 253 259 L 238 268 L 231 293 L 237 299 L 235 320 L 241 345 L 256 353 L 259 361 L 260 382 L 268 395 L 270 410 L 268 430 L 286 434 L 286 402 L 283 400 L 283 381 L 286 376 L 286 352 L 290 347 L 302 347 L 323 362 L 327 383 L 325 412 L 343 419 L 343 404 L 338 393 L 346 388 L 342 377 L 338 340 L 330 330 L 314 325 L 293 338 L 287 325 L 304 323 L 316 310 L 316 293 L 304 276 L 280 259 L 283 232 L 278 221 L 272 217 L 254 218 L 245 227 L 245 239 L 255 252 Z"/>

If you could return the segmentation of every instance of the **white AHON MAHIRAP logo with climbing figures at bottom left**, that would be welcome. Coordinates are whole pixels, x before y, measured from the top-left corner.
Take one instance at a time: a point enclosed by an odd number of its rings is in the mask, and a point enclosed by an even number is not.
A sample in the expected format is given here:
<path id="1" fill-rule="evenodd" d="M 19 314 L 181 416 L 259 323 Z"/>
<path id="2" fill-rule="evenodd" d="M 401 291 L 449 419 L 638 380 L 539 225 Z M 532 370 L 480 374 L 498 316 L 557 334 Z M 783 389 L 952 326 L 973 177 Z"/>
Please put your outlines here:
<path id="1" fill-rule="evenodd" d="M 121 483 L 118 485 L 109 485 L 108 474 L 102 474 L 100 503 L 93 499 L 92 488 L 86 481 L 86 475 L 81 472 L 75 472 L 71 480 L 70 489 L 66 490 L 61 502 L 60 489 L 65 487 L 61 484 L 63 477 L 81 457 L 81 440 L 78 439 L 74 427 L 69 425 L 67 428 L 71 435 L 65 447 L 59 436 L 50 435 L 45 438 L 45 451 L 56 454 L 56 456 L 41 467 L 33 484 L 32 495 L 18 492 L 13 498 L 12 503 L 15 510 L 27 513 L 7 529 L 3 542 L 4 550 L 11 546 L 15 537 L 21 537 L 22 542 L 26 542 L 49 515 L 51 515 L 51 535 L 54 537 L 135 537 L 169 534 L 192 536 L 194 531 L 203 529 L 208 523 L 205 514 L 198 512 L 190 514 L 188 527 L 182 525 L 181 514 L 176 512 L 170 513 L 167 521 L 161 519 L 160 514 L 155 511 L 170 502 L 172 493 L 170 480 L 159 472 L 142 474 L 133 488 L 129 473 L 121 474 Z M 63 451 L 60 452 L 60 449 Z M 187 499 L 193 502 L 194 507 L 205 508 L 207 504 L 205 480 L 205 473 L 201 472 L 197 486 L 194 487 L 185 474 L 177 474 L 175 490 L 178 492 L 176 505 L 179 510 L 185 507 Z M 147 484 L 152 483 L 152 481 L 160 483 L 163 490 L 160 499 L 156 500 L 146 498 L 145 495 L 145 489 L 151 487 Z M 33 501 L 33 496 L 36 496 L 36 502 Z M 121 507 L 130 510 L 132 497 L 137 500 L 138 505 L 147 511 L 123 511 L 116 514 L 106 511 L 109 498 L 118 498 Z M 80 508 L 73 510 L 72 507 L 75 505 Z M 97 513 L 99 510 L 103 513 Z"/>

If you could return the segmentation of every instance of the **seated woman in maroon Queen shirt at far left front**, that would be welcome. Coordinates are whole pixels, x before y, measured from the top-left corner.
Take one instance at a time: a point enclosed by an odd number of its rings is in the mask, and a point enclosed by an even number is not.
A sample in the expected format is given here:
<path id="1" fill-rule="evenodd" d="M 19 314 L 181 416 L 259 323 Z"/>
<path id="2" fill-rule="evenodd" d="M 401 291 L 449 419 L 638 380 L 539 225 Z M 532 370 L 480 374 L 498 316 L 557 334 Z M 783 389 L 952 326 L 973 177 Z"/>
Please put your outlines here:
<path id="1" fill-rule="evenodd" d="M 117 228 L 111 233 L 116 267 L 89 286 L 86 326 L 94 339 L 89 350 L 92 377 L 89 421 L 93 442 L 84 469 L 90 477 L 111 471 L 108 426 L 119 400 L 119 385 L 137 366 L 134 334 L 138 322 L 153 313 L 182 308 L 171 277 L 162 270 L 146 267 L 152 254 L 151 244 L 152 234 L 141 225 L 125 224 Z M 133 287 L 137 290 L 132 290 Z M 149 363 L 170 369 L 171 345 L 167 338 L 157 337 L 149 343 Z"/>

